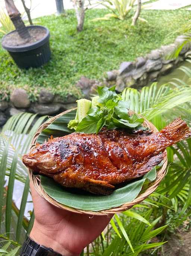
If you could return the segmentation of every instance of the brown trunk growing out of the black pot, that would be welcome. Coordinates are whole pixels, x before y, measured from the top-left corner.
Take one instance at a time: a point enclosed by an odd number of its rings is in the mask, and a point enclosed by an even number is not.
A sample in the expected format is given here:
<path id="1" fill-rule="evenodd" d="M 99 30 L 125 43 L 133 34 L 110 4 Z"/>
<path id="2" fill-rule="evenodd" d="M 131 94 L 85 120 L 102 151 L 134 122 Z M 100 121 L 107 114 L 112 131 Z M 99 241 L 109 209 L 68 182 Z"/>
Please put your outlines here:
<path id="1" fill-rule="evenodd" d="M 29 39 L 31 36 L 28 29 L 25 27 L 24 22 L 21 19 L 21 13 L 16 8 L 13 0 L 5 0 L 7 13 L 12 20 L 18 34 L 23 39 Z"/>

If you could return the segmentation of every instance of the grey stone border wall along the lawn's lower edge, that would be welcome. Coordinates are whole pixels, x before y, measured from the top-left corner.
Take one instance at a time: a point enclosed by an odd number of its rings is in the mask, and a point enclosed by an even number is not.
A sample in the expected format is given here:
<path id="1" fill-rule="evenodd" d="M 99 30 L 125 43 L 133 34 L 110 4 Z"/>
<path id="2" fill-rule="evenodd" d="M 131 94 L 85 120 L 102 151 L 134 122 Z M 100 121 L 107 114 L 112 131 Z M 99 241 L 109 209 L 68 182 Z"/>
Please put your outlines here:
<path id="1" fill-rule="evenodd" d="M 149 81 L 157 81 L 159 76 L 166 75 L 177 64 L 184 61 L 188 55 L 191 55 L 191 49 L 183 48 L 178 58 L 169 58 L 183 41 L 184 36 L 178 36 L 174 43 L 152 50 L 145 57 L 138 57 L 134 62 L 122 62 L 118 70 L 108 71 L 100 81 L 82 76 L 76 87 L 81 89 L 87 99 L 90 99 L 91 95 L 96 93 L 97 85 L 116 85 L 118 92 L 122 92 L 126 87 L 141 88 L 147 85 Z M 38 101 L 32 103 L 27 92 L 18 88 L 12 91 L 10 102 L 0 102 L 0 126 L 3 126 L 9 117 L 20 112 L 56 115 L 74 107 L 76 107 L 76 98 L 74 96 L 68 95 L 63 100 L 59 95 L 54 95 L 46 89 L 41 89 Z"/>

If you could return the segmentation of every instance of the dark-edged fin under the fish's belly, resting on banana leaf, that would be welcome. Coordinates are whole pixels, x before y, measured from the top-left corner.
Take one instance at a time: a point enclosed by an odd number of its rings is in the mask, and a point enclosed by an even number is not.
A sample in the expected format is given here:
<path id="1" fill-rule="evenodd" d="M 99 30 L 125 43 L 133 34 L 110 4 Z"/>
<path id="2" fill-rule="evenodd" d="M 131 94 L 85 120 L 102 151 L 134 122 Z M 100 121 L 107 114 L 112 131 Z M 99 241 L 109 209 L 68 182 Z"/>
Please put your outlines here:
<path id="1" fill-rule="evenodd" d="M 96 195 L 110 195 L 115 186 L 109 184 L 106 181 L 85 179 L 85 190 Z"/>

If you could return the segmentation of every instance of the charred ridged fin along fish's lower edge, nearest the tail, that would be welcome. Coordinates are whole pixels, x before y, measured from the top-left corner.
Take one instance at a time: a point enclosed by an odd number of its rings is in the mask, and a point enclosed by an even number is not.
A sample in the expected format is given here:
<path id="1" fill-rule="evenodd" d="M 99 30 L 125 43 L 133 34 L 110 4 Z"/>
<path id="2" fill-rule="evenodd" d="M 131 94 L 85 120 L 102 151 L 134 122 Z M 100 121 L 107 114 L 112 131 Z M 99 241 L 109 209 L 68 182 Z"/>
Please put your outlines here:
<path id="1" fill-rule="evenodd" d="M 162 162 L 164 159 L 164 155 L 158 154 L 156 156 L 151 157 L 137 172 L 137 177 L 142 177 L 145 175 L 147 172 L 149 172 L 154 166 L 159 165 L 159 163 Z"/>

